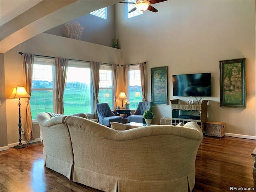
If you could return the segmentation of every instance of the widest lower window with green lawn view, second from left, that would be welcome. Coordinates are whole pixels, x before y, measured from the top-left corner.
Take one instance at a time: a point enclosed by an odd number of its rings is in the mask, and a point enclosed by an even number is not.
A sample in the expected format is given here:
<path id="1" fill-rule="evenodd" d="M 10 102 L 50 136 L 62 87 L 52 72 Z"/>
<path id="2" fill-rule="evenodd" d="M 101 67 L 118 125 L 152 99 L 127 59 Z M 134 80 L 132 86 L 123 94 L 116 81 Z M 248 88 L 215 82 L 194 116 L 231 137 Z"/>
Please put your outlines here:
<path id="1" fill-rule="evenodd" d="M 63 102 L 65 115 L 92 112 L 92 88 L 89 63 L 68 61 L 68 74 Z"/>

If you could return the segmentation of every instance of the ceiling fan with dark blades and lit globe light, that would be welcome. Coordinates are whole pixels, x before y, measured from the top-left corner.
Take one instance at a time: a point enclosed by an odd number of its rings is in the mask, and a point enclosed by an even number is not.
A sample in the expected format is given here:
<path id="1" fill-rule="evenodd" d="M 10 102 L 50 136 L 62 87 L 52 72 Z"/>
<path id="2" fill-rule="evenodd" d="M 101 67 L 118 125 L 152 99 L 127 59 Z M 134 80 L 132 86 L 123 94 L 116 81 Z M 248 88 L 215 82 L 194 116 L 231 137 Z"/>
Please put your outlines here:
<path id="1" fill-rule="evenodd" d="M 130 10 L 128 13 L 131 13 L 133 11 L 135 11 L 136 9 L 141 10 L 141 11 L 145 11 L 145 10 L 149 10 L 152 12 L 158 12 L 158 10 L 154 7 L 152 7 L 150 4 L 155 4 L 155 3 L 160 3 L 163 1 L 167 1 L 167 0 L 137 0 L 136 3 L 134 2 L 120 2 L 120 3 L 128 3 L 128 4 L 135 4 L 135 7 Z"/>

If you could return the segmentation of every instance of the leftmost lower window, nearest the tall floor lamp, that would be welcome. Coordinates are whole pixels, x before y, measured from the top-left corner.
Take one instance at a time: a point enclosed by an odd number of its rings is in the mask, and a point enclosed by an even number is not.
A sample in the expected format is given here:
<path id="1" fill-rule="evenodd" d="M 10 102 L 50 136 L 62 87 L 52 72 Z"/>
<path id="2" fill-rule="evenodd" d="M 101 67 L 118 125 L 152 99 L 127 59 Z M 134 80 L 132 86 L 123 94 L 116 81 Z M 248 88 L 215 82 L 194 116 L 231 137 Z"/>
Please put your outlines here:
<path id="1" fill-rule="evenodd" d="M 34 58 L 30 107 L 32 119 L 40 112 L 54 112 L 54 59 Z"/>

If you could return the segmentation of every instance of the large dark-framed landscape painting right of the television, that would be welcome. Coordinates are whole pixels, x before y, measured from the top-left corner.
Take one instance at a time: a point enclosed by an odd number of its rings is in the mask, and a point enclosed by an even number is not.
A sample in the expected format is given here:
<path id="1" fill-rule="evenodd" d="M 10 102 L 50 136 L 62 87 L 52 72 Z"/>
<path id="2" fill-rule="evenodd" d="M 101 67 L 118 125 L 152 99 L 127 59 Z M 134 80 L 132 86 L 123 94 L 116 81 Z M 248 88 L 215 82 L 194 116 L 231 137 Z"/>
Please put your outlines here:
<path id="1" fill-rule="evenodd" d="M 220 61 L 220 106 L 246 108 L 246 58 Z"/>

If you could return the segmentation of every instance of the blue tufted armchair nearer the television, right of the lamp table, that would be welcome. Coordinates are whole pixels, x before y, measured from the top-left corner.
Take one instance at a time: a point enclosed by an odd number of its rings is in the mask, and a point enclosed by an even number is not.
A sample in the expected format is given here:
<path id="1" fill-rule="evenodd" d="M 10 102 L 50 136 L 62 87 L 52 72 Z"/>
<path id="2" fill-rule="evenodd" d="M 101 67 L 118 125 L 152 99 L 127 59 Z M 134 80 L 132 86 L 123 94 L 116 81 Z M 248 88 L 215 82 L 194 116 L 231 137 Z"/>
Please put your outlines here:
<path id="1" fill-rule="evenodd" d="M 128 122 L 136 122 L 136 123 L 146 123 L 143 114 L 146 110 L 152 111 L 152 104 L 150 101 L 141 101 L 138 104 L 137 109 L 135 110 L 133 115 L 128 117 Z"/>

